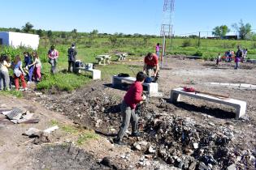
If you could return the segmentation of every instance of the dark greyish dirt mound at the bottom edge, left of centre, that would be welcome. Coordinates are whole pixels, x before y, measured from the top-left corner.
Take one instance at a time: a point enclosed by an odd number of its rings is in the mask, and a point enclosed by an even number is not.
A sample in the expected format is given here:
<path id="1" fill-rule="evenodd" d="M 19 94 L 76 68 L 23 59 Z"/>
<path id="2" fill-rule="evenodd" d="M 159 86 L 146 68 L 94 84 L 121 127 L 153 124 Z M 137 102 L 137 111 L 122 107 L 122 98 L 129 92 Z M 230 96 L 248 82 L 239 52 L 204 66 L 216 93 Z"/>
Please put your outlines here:
<path id="1" fill-rule="evenodd" d="M 99 164 L 93 155 L 71 146 L 43 147 L 33 161 L 34 169 L 115 169 Z"/>

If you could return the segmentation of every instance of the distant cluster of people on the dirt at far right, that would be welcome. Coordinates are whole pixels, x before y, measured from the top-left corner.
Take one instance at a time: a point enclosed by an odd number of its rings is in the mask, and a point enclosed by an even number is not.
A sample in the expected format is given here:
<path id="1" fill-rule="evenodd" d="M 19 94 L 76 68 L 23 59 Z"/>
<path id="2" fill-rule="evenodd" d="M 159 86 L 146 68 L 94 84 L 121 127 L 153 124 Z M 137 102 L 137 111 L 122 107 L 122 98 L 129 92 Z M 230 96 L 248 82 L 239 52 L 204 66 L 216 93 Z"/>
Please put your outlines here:
<path id="1" fill-rule="evenodd" d="M 219 62 L 222 61 L 222 58 L 224 58 L 225 62 L 232 62 L 232 59 L 234 58 L 234 62 L 236 63 L 235 69 L 239 68 L 239 62 L 245 62 L 245 59 L 247 57 L 247 49 L 241 49 L 241 46 L 237 46 L 236 53 L 234 51 L 228 50 L 224 53 L 224 56 L 222 57 L 219 53 L 219 57 L 216 59 L 216 65 L 219 65 Z"/>

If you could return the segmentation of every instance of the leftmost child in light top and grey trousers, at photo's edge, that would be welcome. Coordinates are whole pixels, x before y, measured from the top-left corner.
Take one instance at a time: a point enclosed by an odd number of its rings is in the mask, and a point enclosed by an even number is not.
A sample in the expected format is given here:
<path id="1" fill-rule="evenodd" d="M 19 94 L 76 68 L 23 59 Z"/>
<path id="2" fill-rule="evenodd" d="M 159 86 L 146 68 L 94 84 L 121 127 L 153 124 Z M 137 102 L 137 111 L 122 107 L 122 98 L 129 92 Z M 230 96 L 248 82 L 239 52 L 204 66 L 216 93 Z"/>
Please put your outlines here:
<path id="1" fill-rule="evenodd" d="M 9 77 L 9 71 L 8 68 L 11 66 L 10 63 L 8 63 L 9 57 L 5 54 L 1 54 L 0 57 L 0 90 L 7 90 L 10 91 L 10 77 Z"/>

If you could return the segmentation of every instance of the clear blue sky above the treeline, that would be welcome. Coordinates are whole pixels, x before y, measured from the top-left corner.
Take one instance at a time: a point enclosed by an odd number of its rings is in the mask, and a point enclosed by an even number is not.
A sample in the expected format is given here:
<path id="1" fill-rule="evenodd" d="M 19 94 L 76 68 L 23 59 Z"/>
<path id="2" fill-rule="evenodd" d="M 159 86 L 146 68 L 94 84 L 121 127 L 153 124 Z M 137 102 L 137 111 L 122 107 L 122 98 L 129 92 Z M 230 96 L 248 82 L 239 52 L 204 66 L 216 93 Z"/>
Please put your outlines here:
<path id="1" fill-rule="evenodd" d="M 164 0 L 0 0 L 0 28 L 159 35 Z M 176 35 L 211 32 L 241 19 L 256 29 L 256 0 L 176 0 Z M 256 30 L 254 31 L 256 32 Z"/>

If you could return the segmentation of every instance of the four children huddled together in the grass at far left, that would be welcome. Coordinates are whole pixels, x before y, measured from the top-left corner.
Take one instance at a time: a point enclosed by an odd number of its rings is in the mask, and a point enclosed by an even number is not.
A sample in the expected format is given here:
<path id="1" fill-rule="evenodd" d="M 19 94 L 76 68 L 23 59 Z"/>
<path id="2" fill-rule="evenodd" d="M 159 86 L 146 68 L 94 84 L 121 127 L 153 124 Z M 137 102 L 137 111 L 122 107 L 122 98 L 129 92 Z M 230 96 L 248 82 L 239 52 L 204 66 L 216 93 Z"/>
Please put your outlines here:
<path id="1" fill-rule="evenodd" d="M 20 55 L 16 55 L 13 62 L 11 58 L 6 54 L 1 54 L 0 57 L 0 90 L 10 91 L 10 75 L 9 69 L 13 70 L 13 80 L 15 83 L 15 89 L 20 90 L 20 81 L 23 89 L 26 91 L 27 83 L 31 83 L 33 79 L 35 81 L 41 80 L 41 61 L 37 52 L 33 52 L 31 55 L 28 52 L 24 52 L 24 67 Z"/>

